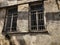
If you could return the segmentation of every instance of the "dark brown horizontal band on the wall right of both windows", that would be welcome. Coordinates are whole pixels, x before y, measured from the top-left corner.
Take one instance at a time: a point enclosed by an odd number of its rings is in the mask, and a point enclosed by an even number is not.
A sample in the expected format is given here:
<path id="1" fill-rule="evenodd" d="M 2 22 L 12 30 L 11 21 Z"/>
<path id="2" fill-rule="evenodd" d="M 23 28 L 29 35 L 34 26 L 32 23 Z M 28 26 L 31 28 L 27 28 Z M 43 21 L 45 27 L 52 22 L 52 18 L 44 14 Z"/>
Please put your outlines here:
<path id="1" fill-rule="evenodd" d="M 46 13 L 47 21 L 60 21 L 60 12 L 47 12 Z"/>

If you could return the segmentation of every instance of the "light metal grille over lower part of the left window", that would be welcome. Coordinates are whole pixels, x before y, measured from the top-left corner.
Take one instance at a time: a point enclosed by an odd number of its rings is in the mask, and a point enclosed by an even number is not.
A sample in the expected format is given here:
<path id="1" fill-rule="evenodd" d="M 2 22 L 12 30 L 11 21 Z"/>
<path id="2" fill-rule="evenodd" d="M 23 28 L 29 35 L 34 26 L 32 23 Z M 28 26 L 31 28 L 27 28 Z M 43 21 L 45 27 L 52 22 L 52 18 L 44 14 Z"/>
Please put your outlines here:
<path id="1" fill-rule="evenodd" d="M 6 21 L 5 21 L 5 31 L 7 32 L 13 32 L 16 31 L 16 22 L 17 21 L 17 14 L 12 14 L 9 16 L 6 16 Z"/>

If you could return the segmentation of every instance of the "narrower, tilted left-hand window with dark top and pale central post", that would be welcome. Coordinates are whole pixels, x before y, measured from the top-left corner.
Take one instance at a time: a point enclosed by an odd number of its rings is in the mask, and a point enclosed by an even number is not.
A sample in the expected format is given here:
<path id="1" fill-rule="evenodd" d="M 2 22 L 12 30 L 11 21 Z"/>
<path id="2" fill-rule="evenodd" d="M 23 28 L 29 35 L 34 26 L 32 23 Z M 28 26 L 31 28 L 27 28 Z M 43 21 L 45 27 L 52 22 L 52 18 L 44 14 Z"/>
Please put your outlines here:
<path id="1" fill-rule="evenodd" d="M 17 26 L 17 7 L 7 8 L 7 15 L 5 18 L 4 31 L 16 31 Z"/>

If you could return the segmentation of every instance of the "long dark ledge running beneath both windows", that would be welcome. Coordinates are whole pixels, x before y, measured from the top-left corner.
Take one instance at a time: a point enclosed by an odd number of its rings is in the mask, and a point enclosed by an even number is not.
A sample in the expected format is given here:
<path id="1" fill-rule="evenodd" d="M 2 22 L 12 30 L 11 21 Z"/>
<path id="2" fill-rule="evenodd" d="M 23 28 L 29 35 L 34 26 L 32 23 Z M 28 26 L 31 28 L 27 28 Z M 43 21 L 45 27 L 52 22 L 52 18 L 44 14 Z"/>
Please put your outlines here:
<path id="1" fill-rule="evenodd" d="M 7 32 L 7 33 L 4 33 L 5 34 L 9 34 L 9 35 L 17 35 L 17 34 L 22 34 L 22 35 L 25 35 L 25 34 L 49 34 L 48 31 L 29 31 L 29 32 Z"/>

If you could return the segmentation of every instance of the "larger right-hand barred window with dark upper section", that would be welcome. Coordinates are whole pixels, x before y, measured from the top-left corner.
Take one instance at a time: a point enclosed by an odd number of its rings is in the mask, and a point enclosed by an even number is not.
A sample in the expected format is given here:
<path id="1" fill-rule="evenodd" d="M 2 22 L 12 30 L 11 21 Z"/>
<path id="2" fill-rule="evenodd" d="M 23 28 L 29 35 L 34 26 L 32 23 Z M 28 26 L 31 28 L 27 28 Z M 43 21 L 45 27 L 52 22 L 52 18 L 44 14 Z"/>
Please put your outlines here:
<path id="1" fill-rule="evenodd" d="M 44 3 L 33 2 L 30 3 L 30 30 L 31 31 L 44 31 Z"/>

